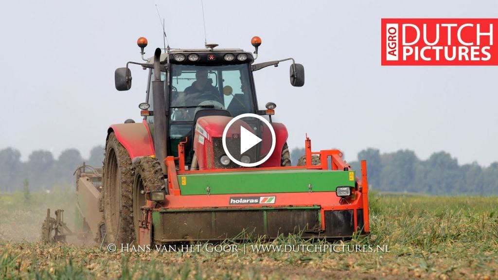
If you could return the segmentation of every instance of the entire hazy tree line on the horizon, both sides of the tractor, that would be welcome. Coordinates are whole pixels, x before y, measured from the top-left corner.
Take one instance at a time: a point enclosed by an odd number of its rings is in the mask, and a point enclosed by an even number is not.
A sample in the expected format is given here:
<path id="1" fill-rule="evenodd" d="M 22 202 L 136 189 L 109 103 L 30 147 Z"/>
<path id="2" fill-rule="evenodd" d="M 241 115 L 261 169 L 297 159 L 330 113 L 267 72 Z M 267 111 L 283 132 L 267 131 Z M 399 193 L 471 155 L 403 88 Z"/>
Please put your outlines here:
<path id="1" fill-rule="evenodd" d="M 304 148 L 291 150 L 295 165 L 304 155 Z M 477 163 L 459 165 L 456 158 L 440 151 L 421 160 L 411 150 L 380 153 L 368 148 L 358 153 L 368 162 L 370 187 L 379 191 L 415 192 L 436 195 L 498 195 L 498 162 L 483 167 Z M 104 147 L 92 148 L 85 159 L 74 148 L 64 150 L 57 158 L 50 151 L 31 152 L 27 161 L 21 153 L 8 147 L 0 150 L 0 192 L 23 190 L 29 184 L 31 191 L 51 189 L 54 186 L 74 185 L 73 172 L 86 162 L 101 167 Z M 360 162 L 349 162 L 360 172 Z"/>

